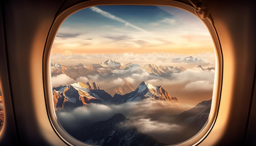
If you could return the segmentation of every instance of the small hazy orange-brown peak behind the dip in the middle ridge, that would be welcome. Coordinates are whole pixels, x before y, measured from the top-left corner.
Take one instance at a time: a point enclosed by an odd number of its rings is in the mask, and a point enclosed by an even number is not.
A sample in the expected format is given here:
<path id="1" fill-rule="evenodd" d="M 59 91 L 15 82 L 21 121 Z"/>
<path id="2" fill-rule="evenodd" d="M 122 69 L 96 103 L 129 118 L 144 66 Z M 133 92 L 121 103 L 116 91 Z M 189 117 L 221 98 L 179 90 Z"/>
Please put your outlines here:
<path id="1" fill-rule="evenodd" d="M 125 80 L 124 82 L 122 82 L 119 85 L 116 85 L 116 86 L 106 89 L 106 91 L 110 95 L 113 96 L 113 95 L 115 95 L 115 93 L 120 94 L 120 95 L 130 93 L 131 91 L 134 91 L 134 89 L 135 89 L 135 87 L 130 82 Z"/>

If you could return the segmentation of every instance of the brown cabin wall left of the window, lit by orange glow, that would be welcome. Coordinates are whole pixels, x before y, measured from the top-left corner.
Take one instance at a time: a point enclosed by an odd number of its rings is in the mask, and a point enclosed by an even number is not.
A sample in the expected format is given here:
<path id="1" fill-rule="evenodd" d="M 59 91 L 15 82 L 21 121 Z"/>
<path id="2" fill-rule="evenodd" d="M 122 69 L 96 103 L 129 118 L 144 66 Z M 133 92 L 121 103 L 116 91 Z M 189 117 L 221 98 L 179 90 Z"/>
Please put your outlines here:
<path id="1" fill-rule="evenodd" d="M 45 106 L 43 88 L 43 51 L 46 38 L 62 0 L 52 1 L 5 1 L 3 25 L 5 26 L 5 50 L 9 66 L 6 82 L 13 99 L 13 115 L 18 145 L 64 144 L 54 132 Z M 2 41 L 2 40 L 1 40 Z M 1 49 L 2 50 L 2 49 Z M 2 68 L 1 68 L 2 69 Z M 2 75 L 1 75 L 2 77 Z M 8 91 L 4 89 L 3 92 Z M 5 97 L 8 100 L 10 96 Z M 9 106 L 6 104 L 5 106 Z M 9 108 L 5 108 L 9 112 Z M 5 117 L 11 113 L 5 113 Z M 8 135 L 9 121 L 4 122 L 2 143 L 15 142 L 15 134 Z M 9 143 L 10 142 L 10 143 Z M 12 145 L 12 144 L 11 144 Z"/>

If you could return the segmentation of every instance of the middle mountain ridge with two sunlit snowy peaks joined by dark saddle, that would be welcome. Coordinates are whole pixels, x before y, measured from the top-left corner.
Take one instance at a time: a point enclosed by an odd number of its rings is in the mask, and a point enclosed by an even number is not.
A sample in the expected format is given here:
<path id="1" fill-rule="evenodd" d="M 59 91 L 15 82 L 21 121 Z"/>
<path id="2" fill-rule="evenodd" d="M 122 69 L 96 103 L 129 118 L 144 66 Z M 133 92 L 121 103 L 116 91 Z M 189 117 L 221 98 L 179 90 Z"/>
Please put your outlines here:
<path id="1" fill-rule="evenodd" d="M 139 102 L 145 99 L 159 101 L 163 104 L 179 106 L 176 97 L 171 95 L 162 86 L 141 82 L 139 86 L 130 93 L 119 95 L 115 93 L 112 97 L 106 91 L 100 89 L 95 82 L 77 82 L 66 86 L 52 89 L 55 111 L 58 108 L 72 109 L 90 103 L 99 104 L 125 104 L 127 102 Z"/>

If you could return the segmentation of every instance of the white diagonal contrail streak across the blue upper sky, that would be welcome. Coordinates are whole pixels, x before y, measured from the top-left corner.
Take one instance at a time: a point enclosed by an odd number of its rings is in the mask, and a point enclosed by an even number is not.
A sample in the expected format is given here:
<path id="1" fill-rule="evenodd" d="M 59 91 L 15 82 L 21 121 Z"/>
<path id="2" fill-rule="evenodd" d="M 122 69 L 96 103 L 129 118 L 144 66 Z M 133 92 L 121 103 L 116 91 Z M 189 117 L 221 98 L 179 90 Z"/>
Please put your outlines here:
<path id="1" fill-rule="evenodd" d="M 130 27 L 133 27 L 133 28 L 135 28 L 135 29 L 137 29 L 137 30 L 139 30 L 139 31 L 147 32 L 146 30 L 141 29 L 141 28 L 137 27 L 136 25 L 127 22 L 126 20 L 123 20 L 123 19 L 121 19 L 121 18 L 119 18 L 119 17 L 117 17 L 117 16 L 115 16 L 115 15 L 112 15 L 112 14 L 106 12 L 106 11 L 102 11 L 102 10 L 99 9 L 98 7 L 90 7 L 90 9 L 92 9 L 92 11 L 97 12 L 97 13 L 100 13 L 101 15 L 103 15 L 103 16 L 105 16 L 105 17 L 107 17 L 107 18 L 110 18 L 110 19 L 112 19 L 112 20 L 117 20 L 117 21 L 119 21 L 119 22 L 123 22 L 123 23 L 125 23 L 126 25 L 128 25 L 128 26 L 130 26 Z"/>

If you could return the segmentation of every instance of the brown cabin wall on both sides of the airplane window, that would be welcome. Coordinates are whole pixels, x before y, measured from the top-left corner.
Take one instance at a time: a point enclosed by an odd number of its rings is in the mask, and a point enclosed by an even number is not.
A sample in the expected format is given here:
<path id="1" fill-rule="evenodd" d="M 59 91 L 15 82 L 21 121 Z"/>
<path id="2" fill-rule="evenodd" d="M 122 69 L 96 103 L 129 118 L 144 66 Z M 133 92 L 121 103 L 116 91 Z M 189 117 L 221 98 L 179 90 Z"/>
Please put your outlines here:
<path id="1" fill-rule="evenodd" d="M 66 145 L 48 118 L 42 78 L 45 42 L 62 4 L 63 0 L 1 3 L 0 145 Z M 67 0 L 65 7 L 69 4 L 73 2 Z M 202 146 L 250 144 L 255 137 L 255 9 L 252 0 L 209 0 L 222 46 L 223 84 L 216 123 Z"/>

